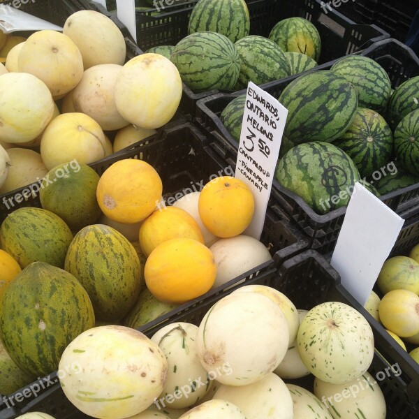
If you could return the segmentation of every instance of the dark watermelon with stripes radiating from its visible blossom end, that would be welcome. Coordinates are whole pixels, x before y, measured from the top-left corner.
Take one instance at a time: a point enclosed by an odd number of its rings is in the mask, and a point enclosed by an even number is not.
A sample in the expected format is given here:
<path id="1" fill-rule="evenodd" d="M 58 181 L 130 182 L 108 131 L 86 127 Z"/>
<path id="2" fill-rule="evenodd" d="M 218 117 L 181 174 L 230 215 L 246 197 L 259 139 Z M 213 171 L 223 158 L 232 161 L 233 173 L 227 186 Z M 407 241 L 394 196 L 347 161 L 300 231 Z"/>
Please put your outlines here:
<path id="1" fill-rule="evenodd" d="M 375 110 L 358 108 L 348 130 L 333 144 L 351 157 L 362 177 L 368 177 L 389 161 L 392 131 Z"/>

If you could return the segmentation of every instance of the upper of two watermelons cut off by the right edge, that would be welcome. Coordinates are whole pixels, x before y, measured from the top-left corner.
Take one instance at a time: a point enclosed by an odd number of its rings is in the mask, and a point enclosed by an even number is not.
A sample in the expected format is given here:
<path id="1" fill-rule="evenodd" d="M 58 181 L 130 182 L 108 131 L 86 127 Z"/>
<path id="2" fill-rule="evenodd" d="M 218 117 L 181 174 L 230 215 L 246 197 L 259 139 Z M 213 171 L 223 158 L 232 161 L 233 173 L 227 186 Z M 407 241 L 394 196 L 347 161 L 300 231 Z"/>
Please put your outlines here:
<path id="1" fill-rule="evenodd" d="M 419 108 L 419 75 L 395 89 L 387 105 L 387 122 L 394 131 L 402 119 Z"/>

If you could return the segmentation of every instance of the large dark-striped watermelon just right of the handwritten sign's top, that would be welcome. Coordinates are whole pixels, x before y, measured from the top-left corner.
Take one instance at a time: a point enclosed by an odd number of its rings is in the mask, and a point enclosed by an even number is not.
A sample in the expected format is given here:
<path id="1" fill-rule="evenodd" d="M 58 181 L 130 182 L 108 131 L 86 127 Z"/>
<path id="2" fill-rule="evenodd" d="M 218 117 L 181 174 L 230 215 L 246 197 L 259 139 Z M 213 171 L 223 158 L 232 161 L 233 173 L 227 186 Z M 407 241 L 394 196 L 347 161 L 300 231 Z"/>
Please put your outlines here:
<path id="1" fill-rule="evenodd" d="M 279 102 L 288 109 L 284 135 L 294 144 L 339 138 L 358 107 L 352 84 L 331 71 L 301 75 L 282 91 Z"/>

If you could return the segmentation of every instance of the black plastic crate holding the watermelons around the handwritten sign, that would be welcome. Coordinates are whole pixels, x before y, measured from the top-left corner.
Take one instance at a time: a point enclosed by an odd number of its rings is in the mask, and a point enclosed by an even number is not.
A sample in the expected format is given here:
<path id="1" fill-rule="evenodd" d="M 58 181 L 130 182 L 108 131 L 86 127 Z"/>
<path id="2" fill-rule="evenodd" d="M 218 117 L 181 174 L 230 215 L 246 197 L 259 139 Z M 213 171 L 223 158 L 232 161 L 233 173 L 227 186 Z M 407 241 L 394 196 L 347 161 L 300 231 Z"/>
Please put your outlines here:
<path id="1" fill-rule="evenodd" d="M 376 60 L 385 68 L 390 76 L 392 87 L 397 87 L 405 80 L 419 75 L 418 57 L 409 47 L 397 40 L 380 41 L 360 52 L 360 54 Z M 323 64 L 323 66 L 311 71 L 327 70 L 332 64 L 333 62 Z M 294 79 L 295 77 L 279 82 L 270 82 L 262 87 L 272 96 L 278 98 L 281 91 Z M 203 98 L 197 103 L 196 122 L 210 134 L 214 150 L 228 161 L 237 159 L 238 143 L 223 126 L 219 115 L 233 98 L 245 93 L 246 91 L 242 90 L 235 94 L 215 94 Z M 344 221 L 346 207 L 333 210 L 325 215 L 319 215 L 300 196 L 288 191 L 276 180 L 273 182 L 272 194 L 276 200 L 275 212 L 281 215 L 286 214 L 293 219 L 310 237 L 310 247 L 312 249 L 324 254 L 335 248 L 335 242 Z M 409 222 L 414 222 L 419 218 L 419 184 L 388 193 L 382 196 L 381 200 Z"/>

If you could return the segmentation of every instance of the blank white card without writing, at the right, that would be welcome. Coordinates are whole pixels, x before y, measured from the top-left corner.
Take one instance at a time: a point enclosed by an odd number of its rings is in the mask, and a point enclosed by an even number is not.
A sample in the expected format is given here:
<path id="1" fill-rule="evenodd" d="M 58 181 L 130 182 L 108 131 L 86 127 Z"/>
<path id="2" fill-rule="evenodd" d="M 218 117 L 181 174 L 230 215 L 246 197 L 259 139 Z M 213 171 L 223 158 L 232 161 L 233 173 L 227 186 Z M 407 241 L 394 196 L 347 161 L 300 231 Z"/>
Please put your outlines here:
<path id="1" fill-rule="evenodd" d="M 341 284 L 364 306 L 404 219 L 356 183 L 330 264 Z"/>

